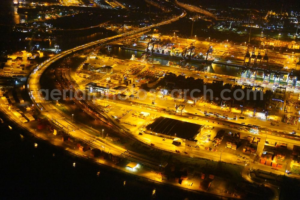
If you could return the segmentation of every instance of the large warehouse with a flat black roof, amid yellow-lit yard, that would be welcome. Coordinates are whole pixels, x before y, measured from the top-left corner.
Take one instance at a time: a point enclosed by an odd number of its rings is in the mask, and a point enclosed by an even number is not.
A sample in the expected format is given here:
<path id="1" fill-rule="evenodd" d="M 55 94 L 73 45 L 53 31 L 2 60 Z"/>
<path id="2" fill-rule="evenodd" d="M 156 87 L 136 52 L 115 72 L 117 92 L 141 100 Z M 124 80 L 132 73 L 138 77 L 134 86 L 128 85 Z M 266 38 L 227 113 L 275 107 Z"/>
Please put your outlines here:
<path id="1" fill-rule="evenodd" d="M 146 133 L 167 138 L 181 138 L 195 140 L 201 134 L 204 126 L 167 117 L 158 117 L 146 126 Z"/>

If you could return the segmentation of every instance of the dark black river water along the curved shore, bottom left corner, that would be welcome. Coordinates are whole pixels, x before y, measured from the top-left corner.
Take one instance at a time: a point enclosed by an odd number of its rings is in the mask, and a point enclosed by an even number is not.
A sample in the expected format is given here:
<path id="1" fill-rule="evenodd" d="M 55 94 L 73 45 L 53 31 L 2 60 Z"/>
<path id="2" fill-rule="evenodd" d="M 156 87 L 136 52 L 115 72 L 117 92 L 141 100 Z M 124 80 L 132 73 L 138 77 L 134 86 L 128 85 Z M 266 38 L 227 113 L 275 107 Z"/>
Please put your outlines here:
<path id="1" fill-rule="evenodd" d="M 2 198 L 219 199 L 96 164 L 0 116 Z"/>

